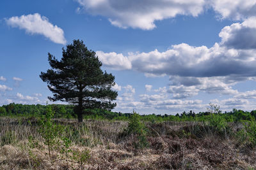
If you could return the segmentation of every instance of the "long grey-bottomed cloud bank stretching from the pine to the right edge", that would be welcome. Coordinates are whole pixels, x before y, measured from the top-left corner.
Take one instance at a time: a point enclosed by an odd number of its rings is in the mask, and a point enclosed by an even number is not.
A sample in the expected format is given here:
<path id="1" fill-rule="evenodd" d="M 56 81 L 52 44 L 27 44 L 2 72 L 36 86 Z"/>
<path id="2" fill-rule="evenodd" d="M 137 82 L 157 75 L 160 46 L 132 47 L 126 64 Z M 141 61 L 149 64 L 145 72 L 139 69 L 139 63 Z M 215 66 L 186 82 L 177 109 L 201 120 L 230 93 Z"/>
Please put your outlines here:
<path id="1" fill-rule="evenodd" d="M 184 84 L 198 83 L 193 77 L 254 77 L 256 76 L 255 23 L 256 17 L 252 17 L 242 24 L 236 23 L 223 28 L 220 32 L 221 43 L 215 43 L 211 48 L 181 43 L 172 45 L 164 52 L 156 49 L 151 52 L 129 52 L 127 56 L 113 52 L 113 57 L 118 56 L 118 60 L 125 62 L 114 62 L 113 59 L 102 62 L 106 66 L 133 69 L 150 76 L 191 77 L 190 80 L 184 80 L 186 81 Z M 109 54 L 100 52 L 102 56 Z M 129 63 L 129 67 L 125 67 L 128 65 L 124 63 Z"/>

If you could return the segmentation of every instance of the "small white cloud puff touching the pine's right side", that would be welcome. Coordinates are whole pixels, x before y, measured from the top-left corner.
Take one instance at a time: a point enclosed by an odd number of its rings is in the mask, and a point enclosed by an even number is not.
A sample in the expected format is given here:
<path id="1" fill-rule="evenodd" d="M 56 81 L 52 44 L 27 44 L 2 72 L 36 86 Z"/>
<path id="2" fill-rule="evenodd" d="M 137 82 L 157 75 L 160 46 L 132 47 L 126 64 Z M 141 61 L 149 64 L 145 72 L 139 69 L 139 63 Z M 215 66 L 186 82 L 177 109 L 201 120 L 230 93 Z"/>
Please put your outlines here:
<path id="1" fill-rule="evenodd" d="M 111 69 L 131 69 L 132 64 L 127 57 L 122 55 L 122 53 L 104 53 L 104 52 L 96 52 L 99 60 L 104 64 L 104 66 L 109 67 Z"/>

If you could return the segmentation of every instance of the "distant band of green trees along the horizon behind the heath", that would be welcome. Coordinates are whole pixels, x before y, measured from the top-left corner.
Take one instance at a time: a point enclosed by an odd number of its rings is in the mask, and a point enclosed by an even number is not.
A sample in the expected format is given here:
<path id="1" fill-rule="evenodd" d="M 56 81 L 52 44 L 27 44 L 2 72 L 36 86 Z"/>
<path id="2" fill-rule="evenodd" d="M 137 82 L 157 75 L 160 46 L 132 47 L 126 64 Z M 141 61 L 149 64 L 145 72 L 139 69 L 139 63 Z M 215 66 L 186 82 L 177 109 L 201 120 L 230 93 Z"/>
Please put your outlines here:
<path id="1" fill-rule="evenodd" d="M 54 111 L 54 118 L 77 118 L 77 114 L 74 112 L 74 106 L 71 104 L 50 104 Z M 1 117 L 40 117 L 45 115 L 47 106 L 42 104 L 15 104 L 10 103 L 0 107 Z M 83 118 L 86 119 L 102 119 L 102 120 L 129 120 L 132 113 L 121 113 L 109 110 L 103 110 L 99 108 L 84 109 Z M 221 113 L 211 113 L 211 111 L 204 111 L 195 113 L 194 111 L 183 111 L 176 114 L 148 114 L 140 115 L 140 120 L 147 122 L 163 122 L 163 121 L 196 121 L 203 122 L 209 120 L 211 115 L 216 115 L 223 118 L 226 122 L 243 122 L 243 121 L 255 121 L 256 110 L 243 111 L 233 109 L 232 111 L 225 111 Z"/>

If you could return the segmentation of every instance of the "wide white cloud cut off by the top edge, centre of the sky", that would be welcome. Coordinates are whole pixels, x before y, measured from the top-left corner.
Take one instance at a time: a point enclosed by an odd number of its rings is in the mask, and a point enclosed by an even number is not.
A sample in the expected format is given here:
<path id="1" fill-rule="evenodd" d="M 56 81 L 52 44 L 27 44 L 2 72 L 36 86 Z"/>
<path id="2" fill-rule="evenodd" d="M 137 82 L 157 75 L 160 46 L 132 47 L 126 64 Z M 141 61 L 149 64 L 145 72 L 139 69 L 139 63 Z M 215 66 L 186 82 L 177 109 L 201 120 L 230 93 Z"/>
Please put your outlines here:
<path id="1" fill-rule="evenodd" d="M 102 15 L 111 24 L 127 28 L 154 29 L 156 20 L 173 18 L 177 15 L 198 16 L 204 11 L 204 0 L 77 0 L 92 15 Z"/>

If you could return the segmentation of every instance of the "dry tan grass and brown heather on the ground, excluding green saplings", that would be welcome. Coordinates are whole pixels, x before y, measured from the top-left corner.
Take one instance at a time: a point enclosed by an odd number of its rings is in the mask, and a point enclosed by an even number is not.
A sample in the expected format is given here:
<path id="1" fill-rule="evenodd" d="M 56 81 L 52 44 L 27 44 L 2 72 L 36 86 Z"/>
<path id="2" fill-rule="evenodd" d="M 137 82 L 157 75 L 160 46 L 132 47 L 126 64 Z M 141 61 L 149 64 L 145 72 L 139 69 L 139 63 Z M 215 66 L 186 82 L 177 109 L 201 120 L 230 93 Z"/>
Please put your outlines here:
<path id="1" fill-rule="evenodd" d="M 36 119 L 0 118 L 0 169 L 255 169 L 255 149 L 237 136 L 241 124 L 217 131 L 193 122 L 146 123 L 148 146 L 134 147 L 135 135 L 125 135 L 127 122 L 56 120 L 65 125 L 72 145 L 67 154 L 51 157 L 36 129 Z M 29 136 L 38 141 L 31 147 Z M 88 157 L 81 166 L 72 153 Z"/>

